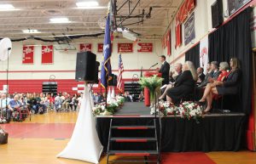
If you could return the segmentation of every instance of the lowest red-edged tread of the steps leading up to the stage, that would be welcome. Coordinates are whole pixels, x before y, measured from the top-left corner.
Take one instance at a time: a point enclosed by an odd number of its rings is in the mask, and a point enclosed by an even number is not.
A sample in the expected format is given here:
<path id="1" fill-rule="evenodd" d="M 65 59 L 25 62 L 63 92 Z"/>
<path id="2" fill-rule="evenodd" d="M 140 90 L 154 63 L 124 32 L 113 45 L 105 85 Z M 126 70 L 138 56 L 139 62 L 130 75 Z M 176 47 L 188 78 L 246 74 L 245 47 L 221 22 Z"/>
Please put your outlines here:
<path id="1" fill-rule="evenodd" d="M 109 150 L 108 155 L 115 156 L 152 156 L 158 155 L 157 150 Z"/>

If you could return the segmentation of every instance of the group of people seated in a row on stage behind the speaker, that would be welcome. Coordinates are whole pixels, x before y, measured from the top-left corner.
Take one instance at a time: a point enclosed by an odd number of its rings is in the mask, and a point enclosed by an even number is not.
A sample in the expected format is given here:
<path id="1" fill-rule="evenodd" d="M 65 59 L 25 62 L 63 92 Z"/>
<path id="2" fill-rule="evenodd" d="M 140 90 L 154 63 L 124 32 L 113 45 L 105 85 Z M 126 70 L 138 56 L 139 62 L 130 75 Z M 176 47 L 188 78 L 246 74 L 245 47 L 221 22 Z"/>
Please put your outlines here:
<path id="1" fill-rule="evenodd" d="M 230 68 L 230 71 L 228 69 Z M 207 107 L 204 112 L 212 109 L 213 95 L 237 94 L 241 80 L 241 70 L 239 60 L 230 59 L 230 66 L 227 62 L 212 61 L 207 65 L 207 74 L 203 75 L 202 68 L 195 71 L 195 66 L 191 61 L 186 61 L 184 65 L 176 64 L 177 76 L 170 77 L 170 84 L 166 87 L 160 99 L 166 99 L 172 103 L 180 102 L 183 97 L 196 90 L 203 91 L 198 103 Z M 195 85 L 196 84 L 196 85 Z"/>

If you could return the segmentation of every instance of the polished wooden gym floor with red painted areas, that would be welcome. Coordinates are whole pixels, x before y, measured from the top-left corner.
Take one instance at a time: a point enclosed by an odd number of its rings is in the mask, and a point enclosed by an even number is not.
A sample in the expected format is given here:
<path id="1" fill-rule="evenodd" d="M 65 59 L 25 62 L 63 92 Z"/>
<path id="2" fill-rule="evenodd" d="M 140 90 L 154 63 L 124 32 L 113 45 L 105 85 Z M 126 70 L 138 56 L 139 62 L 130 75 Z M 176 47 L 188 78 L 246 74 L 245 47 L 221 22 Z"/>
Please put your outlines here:
<path id="1" fill-rule="evenodd" d="M 0 145 L 2 164 L 84 164 L 85 161 L 56 158 L 69 141 L 77 119 L 76 112 L 55 113 L 32 116 L 32 121 L 3 124 L 9 133 L 9 143 Z M 113 156 L 111 159 L 119 158 Z M 100 160 L 106 163 L 105 156 Z M 238 152 L 186 152 L 165 153 L 163 164 L 255 164 L 256 153 L 242 150 Z"/>

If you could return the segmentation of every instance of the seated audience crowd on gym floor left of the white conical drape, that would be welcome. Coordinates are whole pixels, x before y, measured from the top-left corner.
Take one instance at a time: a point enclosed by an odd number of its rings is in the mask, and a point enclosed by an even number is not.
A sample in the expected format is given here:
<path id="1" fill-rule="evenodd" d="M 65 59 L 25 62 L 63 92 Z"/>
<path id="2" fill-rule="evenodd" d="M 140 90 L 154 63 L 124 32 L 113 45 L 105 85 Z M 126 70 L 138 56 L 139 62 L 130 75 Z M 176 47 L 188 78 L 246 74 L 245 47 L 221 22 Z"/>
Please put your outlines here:
<path id="1" fill-rule="evenodd" d="M 47 95 L 47 96 L 46 96 Z M 3 116 L 6 118 L 7 122 L 11 120 L 13 112 L 28 110 L 29 113 L 33 114 L 44 114 L 48 110 L 77 110 L 79 108 L 79 101 L 81 96 L 74 94 L 73 98 L 67 93 L 59 93 L 56 96 L 53 94 L 44 93 L 15 93 L 9 94 L 6 98 L 5 93 L 0 93 L 0 112 L 1 119 Z M 15 103 L 15 104 L 13 104 Z M 25 115 L 20 115 L 19 120 L 23 120 Z"/>

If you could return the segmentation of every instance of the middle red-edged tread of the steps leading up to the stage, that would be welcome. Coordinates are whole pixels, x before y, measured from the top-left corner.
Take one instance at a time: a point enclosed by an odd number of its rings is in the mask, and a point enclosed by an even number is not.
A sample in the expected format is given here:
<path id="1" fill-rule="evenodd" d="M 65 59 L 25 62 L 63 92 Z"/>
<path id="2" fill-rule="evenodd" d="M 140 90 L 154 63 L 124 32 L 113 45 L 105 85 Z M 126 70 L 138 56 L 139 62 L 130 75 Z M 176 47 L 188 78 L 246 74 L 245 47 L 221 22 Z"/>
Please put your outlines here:
<path id="1" fill-rule="evenodd" d="M 110 141 L 117 143 L 147 143 L 156 141 L 156 138 L 111 138 Z"/>

